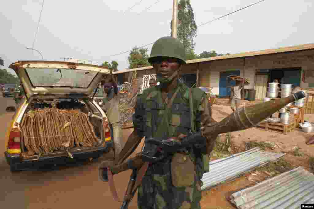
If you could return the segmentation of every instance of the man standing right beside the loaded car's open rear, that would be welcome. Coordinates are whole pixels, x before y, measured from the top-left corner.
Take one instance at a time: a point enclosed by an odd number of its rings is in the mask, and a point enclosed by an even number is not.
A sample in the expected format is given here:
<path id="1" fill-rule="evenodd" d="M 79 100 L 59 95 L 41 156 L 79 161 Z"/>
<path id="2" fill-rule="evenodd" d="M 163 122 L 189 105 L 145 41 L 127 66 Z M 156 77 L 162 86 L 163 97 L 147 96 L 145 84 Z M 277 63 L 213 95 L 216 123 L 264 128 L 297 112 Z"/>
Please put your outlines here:
<path id="1" fill-rule="evenodd" d="M 106 78 L 104 83 L 104 90 L 106 97 L 103 100 L 102 109 L 106 112 L 106 115 L 109 120 L 109 124 L 113 129 L 113 152 L 114 157 L 116 158 L 121 149 L 121 123 L 120 123 L 120 94 L 118 91 L 118 86 L 114 76 L 111 74 L 111 77 Z"/>

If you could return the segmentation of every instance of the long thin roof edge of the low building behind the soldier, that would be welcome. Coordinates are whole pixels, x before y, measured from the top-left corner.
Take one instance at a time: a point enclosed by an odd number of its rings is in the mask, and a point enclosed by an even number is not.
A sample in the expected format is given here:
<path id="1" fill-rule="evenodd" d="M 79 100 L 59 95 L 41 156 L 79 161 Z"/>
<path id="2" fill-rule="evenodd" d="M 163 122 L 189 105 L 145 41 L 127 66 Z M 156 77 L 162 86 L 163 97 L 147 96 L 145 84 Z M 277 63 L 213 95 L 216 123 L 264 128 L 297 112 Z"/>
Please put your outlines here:
<path id="1" fill-rule="evenodd" d="M 278 49 L 267 49 L 267 50 L 259 50 L 259 51 L 250 51 L 250 52 L 243 52 L 238 54 L 232 55 L 224 55 L 224 56 L 215 56 L 209 58 L 202 58 L 202 59 L 195 59 L 195 60 L 187 60 L 187 64 L 198 63 L 198 62 L 207 62 L 213 60 L 224 60 L 224 59 L 232 59 L 232 58 L 240 58 L 240 57 L 251 57 L 257 55 L 269 55 L 269 54 L 276 54 L 276 53 L 284 53 L 284 52 L 291 52 L 291 51 L 300 51 L 300 50 L 310 50 L 314 49 L 314 44 L 302 44 L 296 46 L 288 46 L 282 47 Z M 112 72 L 113 74 L 125 73 L 125 72 L 132 72 L 132 71 L 142 71 L 152 69 L 153 66 L 148 67 L 140 67 L 134 69 L 125 69 L 121 71 Z"/>

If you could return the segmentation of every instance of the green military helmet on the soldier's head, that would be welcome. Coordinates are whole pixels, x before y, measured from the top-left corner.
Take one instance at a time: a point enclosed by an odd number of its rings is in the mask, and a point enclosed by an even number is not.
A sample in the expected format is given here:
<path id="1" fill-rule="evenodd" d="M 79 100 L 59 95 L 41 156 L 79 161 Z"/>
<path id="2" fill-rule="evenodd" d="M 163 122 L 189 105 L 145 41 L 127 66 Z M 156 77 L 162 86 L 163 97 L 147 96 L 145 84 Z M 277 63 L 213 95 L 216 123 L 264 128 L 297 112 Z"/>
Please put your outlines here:
<path id="1" fill-rule="evenodd" d="M 171 36 L 162 37 L 154 43 L 148 58 L 149 63 L 152 64 L 156 57 L 174 57 L 186 63 L 183 44 Z"/>

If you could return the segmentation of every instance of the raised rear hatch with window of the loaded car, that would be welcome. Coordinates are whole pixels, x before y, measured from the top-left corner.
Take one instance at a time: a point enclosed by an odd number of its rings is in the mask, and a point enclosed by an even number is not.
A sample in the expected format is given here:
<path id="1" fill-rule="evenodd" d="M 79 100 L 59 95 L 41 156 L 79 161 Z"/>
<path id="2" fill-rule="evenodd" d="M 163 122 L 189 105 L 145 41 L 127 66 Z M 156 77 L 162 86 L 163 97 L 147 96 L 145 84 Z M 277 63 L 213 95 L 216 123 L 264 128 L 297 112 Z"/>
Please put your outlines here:
<path id="1" fill-rule="evenodd" d="M 103 66 L 63 61 L 18 61 L 9 68 L 19 76 L 27 97 L 36 94 L 84 94 L 89 96 L 104 74 Z"/>

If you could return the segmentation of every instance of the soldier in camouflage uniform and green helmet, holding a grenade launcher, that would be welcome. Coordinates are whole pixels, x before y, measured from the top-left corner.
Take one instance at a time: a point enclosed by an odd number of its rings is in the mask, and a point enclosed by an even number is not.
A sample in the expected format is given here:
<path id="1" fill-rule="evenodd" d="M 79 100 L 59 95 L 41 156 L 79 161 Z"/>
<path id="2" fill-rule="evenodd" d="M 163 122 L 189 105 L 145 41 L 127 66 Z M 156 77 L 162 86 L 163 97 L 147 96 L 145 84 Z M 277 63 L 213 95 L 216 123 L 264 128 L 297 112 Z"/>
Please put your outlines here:
<path id="1" fill-rule="evenodd" d="M 103 181 L 106 181 L 103 177 L 106 173 L 102 173 L 105 168 L 126 159 L 143 137 L 181 139 L 191 130 L 202 130 L 203 124 L 216 123 L 211 117 L 208 97 L 199 88 L 191 90 L 193 109 L 190 109 L 190 89 L 179 79 L 181 67 L 186 62 L 183 44 L 178 39 L 158 39 L 148 61 L 156 70 L 160 85 L 144 90 L 138 97 L 133 115 L 134 131 L 119 159 L 111 163 L 103 161 L 100 165 L 100 179 Z M 203 133 L 201 137 L 204 138 Z M 138 188 L 138 208 L 201 208 L 201 179 L 203 173 L 208 172 L 208 154 L 213 147 L 214 142 L 202 147 L 185 148 L 162 161 L 150 163 Z"/>

